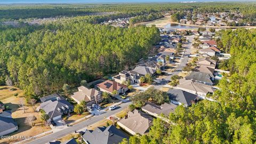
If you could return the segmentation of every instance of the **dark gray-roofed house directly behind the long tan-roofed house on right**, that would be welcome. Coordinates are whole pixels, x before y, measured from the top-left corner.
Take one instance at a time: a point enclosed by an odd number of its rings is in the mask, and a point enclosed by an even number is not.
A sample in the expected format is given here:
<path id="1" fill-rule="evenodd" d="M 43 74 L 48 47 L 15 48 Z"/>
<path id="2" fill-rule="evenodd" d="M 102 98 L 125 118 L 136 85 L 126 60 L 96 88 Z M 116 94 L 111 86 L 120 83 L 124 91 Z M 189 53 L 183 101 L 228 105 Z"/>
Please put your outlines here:
<path id="1" fill-rule="evenodd" d="M 213 82 L 214 82 L 213 74 L 202 73 L 200 71 L 192 71 L 185 78 L 193 80 L 198 83 L 207 84 L 207 85 L 213 85 Z"/>

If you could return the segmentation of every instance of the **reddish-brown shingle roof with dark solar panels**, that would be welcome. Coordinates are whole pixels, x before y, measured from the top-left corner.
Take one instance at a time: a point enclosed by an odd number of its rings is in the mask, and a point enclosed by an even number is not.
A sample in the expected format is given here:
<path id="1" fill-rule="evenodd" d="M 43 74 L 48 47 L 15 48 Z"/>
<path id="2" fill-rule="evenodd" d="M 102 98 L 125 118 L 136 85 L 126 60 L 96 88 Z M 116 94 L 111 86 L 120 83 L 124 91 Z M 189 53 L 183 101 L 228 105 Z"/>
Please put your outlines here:
<path id="1" fill-rule="evenodd" d="M 114 90 L 118 91 L 119 89 L 121 89 L 122 87 L 123 88 L 126 88 L 127 86 L 126 85 L 123 85 L 123 84 L 119 84 L 115 81 L 110 81 L 110 80 L 107 80 L 103 83 L 100 83 L 100 84 L 97 84 L 96 85 L 97 87 L 103 89 L 103 90 L 106 90 L 108 92 L 113 92 Z"/>

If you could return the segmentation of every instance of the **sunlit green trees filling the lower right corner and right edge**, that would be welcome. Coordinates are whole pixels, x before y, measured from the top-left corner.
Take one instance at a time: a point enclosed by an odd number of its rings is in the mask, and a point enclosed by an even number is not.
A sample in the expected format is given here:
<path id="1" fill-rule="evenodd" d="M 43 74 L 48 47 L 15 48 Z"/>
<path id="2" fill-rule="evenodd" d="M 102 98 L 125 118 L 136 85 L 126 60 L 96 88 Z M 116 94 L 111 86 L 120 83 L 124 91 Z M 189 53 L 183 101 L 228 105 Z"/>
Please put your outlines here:
<path id="1" fill-rule="evenodd" d="M 214 92 L 218 102 L 202 100 L 189 108 L 178 106 L 168 117 L 154 119 L 148 135 L 130 137 L 137 143 L 255 143 L 256 49 L 255 29 L 222 30 L 222 49 L 231 53 L 231 77 Z M 122 144 L 128 143 L 123 140 Z"/>

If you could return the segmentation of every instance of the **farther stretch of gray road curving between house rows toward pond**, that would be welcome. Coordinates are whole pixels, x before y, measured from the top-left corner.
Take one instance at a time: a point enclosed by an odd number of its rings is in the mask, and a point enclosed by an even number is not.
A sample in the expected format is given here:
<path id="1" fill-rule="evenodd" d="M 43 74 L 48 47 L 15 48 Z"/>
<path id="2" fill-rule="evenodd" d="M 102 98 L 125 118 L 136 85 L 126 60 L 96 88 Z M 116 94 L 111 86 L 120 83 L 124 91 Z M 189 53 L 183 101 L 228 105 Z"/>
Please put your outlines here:
<path id="1" fill-rule="evenodd" d="M 173 75 L 178 75 L 182 71 L 182 69 L 186 66 L 189 59 L 188 56 L 190 55 L 190 52 L 191 52 L 192 41 L 195 36 L 193 35 L 193 36 L 185 36 L 185 37 L 188 38 L 188 42 L 184 46 L 185 53 L 181 56 L 181 61 L 179 66 L 175 68 L 175 70 L 172 71 L 172 73 L 167 74 L 167 76 L 163 80 L 156 81 L 154 85 L 155 89 L 158 89 L 158 90 L 161 89 L 165 84 L 167 84 L 167 81 L 170 81 Z"/>

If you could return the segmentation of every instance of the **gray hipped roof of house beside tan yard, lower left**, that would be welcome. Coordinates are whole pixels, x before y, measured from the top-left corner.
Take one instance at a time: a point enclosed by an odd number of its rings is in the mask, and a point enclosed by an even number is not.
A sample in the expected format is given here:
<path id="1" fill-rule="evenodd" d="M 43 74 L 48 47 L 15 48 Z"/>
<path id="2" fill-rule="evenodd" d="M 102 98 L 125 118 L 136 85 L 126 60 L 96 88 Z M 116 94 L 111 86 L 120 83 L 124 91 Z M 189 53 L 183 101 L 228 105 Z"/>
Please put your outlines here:
<path id="1" fill-rule="evenodd" d="M 40 104 L 41 108 L 45 111 L 49 118 L 53 118 L 61 114 L 61 110 L 63 109 L 73 109 L 73 105 L 71 105 L 67 100 L 49 100 Z"/>

